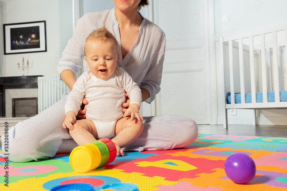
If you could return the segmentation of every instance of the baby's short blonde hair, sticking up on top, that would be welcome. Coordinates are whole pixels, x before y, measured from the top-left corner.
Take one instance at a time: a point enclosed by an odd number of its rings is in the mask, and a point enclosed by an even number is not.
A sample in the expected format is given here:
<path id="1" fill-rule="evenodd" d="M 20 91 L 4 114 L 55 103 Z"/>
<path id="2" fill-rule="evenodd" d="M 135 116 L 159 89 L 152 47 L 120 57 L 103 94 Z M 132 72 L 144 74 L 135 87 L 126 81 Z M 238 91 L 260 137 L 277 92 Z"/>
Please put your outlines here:
<path id="1" fill-rule="evenodd" d="M 84 44 L 84 54 L 86 55 L 86 43 L 89 40 L 100 40 L 101 42 L 111 42 L 114 44 L 114 51 L 117 52 L 118 56 L 120 55 L 119 52 L 119 44 L 115 36 L 108 31 L 108 29 L 103 26 L 102 28 L 94 30 L 89 36 L 86 38 L 85 44 Z"/>

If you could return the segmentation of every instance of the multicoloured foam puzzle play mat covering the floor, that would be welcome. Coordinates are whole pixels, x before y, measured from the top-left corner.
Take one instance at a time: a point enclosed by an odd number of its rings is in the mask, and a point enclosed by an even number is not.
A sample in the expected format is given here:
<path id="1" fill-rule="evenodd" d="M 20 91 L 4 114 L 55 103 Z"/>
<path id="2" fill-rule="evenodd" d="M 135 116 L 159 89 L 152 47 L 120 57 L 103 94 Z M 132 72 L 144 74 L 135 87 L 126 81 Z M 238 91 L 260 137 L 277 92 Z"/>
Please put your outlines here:
<path id="1" fill-rule="evenodd" d="M 245 184 L 234 183 L 226 175 L 224 163 L 234 153 L 248 155 L 256 165 L 254 178 Z M 116 157 L 110 164 L 84 173 L 73 170 L 69 156 L 70 153 L 57 154 L 26 163 L 8 161 L 9 187 L 4 182 L 7 163 L 0 157 L 0 190 L 53 191 L 62 186 L 62 190 L 94 191 L 287 191 L 287 138 L 284 137 L 199 134 L 187 147 L 125 152 L 125 156 Z M 243 173 L 231 171 L 236 176 Z"/>

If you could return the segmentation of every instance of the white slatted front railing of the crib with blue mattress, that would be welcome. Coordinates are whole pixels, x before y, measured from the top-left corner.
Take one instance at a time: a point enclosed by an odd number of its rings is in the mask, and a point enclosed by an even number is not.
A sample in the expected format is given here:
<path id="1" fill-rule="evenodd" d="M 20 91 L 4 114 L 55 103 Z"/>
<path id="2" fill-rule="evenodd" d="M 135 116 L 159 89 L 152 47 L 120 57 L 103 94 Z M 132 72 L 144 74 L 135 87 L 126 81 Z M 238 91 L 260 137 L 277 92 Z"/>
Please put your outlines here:
<path id="1" fill-rule="evenodd" d="M 231 104 L 224 104 L 225 109 L 225 116 L 224 116 L 224 128 L 227 128 L 227 109 L 271 109 L 271 108 L 286 108 L 287 102 L 280 103 L 280 76 L 278 70 L 278 52 L 277 52 L 277 31 L 284 31 L 285 36 L 285 47 L 287 45 L 287 24 L 277 25 L 266 27 L 264 29 L 257 29 L 253 31 L 247 31 L 244 33 L 234 34 L 228 37 L 220 37 L 220 44 L 221 44 L 221 69 L 222 69 L 222 82 L 225 84 L 224 81 L 224 44 L 228 42 L 228 51 L 225 54 L 229 55 L 229 76 L 230 79 L 230 96 L 231 96 Z M 268 103 L 267 99 L 267 91 L 268 91 L 268 74 L 267 74 L 267 64 L 265 58 L 265 34 L 272 33 L 272 50 L 273 50 L 273 68 L 272 68 L 272 88 L 275 92 L 275 102 Z M 254 63 L 254 44 L 253 38 L 254 36 L 260 36 L 260 48 L 261 51 L 261 82 L 260 84 L 263 92 L 263 103 L 256 103 L 256 80 L 255 79 L 255 63 Z M 249 63 L 250 63 L 250 79 L 251 79 L 251 101 L 252 103 L 245 102 L 245 81 L 244 81 L 244 60 L 243 60 L 243 39 L 249 38 Z M 239 49 L 239 60 L 235 60 L 233 46 L 234 41 L 236 44 L 238 42 L 238 49 Z M 268 42 L 269 43 L 269 42 Z M 246 45 L 244 45 L 246 46 Z M 286 50 L 286 48 L 285 48 Z M 285 58 L 287 61 L 287 54 L 285 53 Z M 240 93 L 241 93 L 241 104 L 235 104 L 235 92 L 234 92 L 234 60 L 236 63 L 239 62 L 239 77 L 240 77 Z M 236 64 L 235 63 L 235 64 Z M 286 67 L 287 68 L 287 67 Z M 270 71 L 269 71 L 270 72 Z M 286 71 L 287 73 L 287 71 Z M 258 86 L 258 84 L 257 84 Z M 227 103 L 226 99 L 226 91 L 222 95 L 223 103 Z M 250 93 L 250 92 L 247 92 Z"/>

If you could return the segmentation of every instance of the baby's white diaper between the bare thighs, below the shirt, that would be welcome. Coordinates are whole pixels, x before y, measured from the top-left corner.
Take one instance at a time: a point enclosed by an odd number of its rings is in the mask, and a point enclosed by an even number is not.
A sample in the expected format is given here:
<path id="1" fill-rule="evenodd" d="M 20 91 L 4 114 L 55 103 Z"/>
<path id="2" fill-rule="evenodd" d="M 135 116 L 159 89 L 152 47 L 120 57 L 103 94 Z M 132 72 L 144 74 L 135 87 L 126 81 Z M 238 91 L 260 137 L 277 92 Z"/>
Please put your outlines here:
<path id="1" fill-rule="evenodd" d="M 94 121 L 96 126 L 98 139 L 115 137 L 115 127 L 118 120 L 115 121 Z"/>

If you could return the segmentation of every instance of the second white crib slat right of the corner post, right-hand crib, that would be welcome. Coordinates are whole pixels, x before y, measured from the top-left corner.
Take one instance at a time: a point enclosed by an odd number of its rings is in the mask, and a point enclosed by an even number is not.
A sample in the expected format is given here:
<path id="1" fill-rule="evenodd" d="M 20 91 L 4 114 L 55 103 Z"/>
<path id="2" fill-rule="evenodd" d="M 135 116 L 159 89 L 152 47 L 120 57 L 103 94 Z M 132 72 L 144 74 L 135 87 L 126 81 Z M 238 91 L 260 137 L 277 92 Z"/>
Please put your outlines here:
<path id="1" fill-rule="evenodd" d="M 238 49 L 239 49 L 239 72 L 240 72 L 241 103 L 245 103 L 245 84 L 244 84 L 244 64 L 243 64 L 243 42 L 242 42 L 242 38 L 238 39 Z"/>

